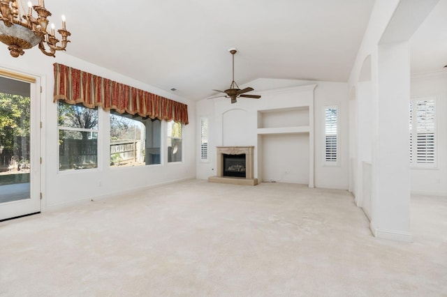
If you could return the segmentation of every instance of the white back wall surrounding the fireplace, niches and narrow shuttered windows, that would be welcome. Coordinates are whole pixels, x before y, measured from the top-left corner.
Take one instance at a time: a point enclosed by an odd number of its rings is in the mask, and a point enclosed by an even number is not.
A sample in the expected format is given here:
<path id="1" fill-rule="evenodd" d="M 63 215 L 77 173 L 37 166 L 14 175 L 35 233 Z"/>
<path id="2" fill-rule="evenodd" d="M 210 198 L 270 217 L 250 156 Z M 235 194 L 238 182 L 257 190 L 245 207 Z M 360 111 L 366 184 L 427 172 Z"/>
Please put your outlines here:
<path id="1" fill-rule="evenodd" d="M 307 183 L 309 165 L 304 158 L 309 158 L 309 134 L 257 135 L 258 111 L 265 109 L 289 108 L 307 104 L 307 95 L 300 86 L 316 84 L 314 89 L 314 153 L 315 186 L 320 188 L 348 188 L 348 89 L 346 83 L 309 82 L 295 79 L 256 79 L 241 86 L 251 86 L 251 92 L 263 96 L 261 99 L 239 98 L 230 104 L 228 98 L 201 100 L 197 103 L 197 119 L 209 118 L 210 160 L 197 162 L 197 178 L 206 179 L 215 176 L 216 146 L 256 146 L 255 177 L 261 181 L 279 181 L 288 183 Z M 297 88 L 294 88 L 294 87 Z M 307 93 L 306 93 L 307 94 Z M 311 93 L 312 96 L 312 93 Z M 306 101 L 306 103 L 304 103 Z M 324 114 L 325 105 L 339 106 L 340 120 L 340 165 L 325 167 L 323 165 Z M 299 114 L 300 112 L 297 112 Z M 244 119 L 240 116 L 245 114 Z M 274 117 L 274 116 L 273 116 Z M 273 119 L 272 116 L 266 121 Z M 273 120 L 272 120 L 273 121 Z M 275 118 L 273 122 L 289 125 L 290 115 Z M 279 123 L 282 121 L 281 123 Z M 271 124 L 271 123 L 270 123 Z M 269 126 L 271 126 L 269 124 Z M 300 120 L 293 125 L 300 125 Z M 274 125 L 274 124 L 273 124 Z M 200 139 L 197 140 L 200 142 Z M 258 146 L 259 144 L 259 146 Z M 262 153 L 261 153 L 262 152 Z M 289 156 L 288 159 L 286 156 Z M 286 159 L 289 162 L 286 162 Z M 307 159 L 308 161 L 308 159 Z M 259 168 L 258 168 L 259 166 Z M 268 172 L 266 171 L 268 168 Z"/>

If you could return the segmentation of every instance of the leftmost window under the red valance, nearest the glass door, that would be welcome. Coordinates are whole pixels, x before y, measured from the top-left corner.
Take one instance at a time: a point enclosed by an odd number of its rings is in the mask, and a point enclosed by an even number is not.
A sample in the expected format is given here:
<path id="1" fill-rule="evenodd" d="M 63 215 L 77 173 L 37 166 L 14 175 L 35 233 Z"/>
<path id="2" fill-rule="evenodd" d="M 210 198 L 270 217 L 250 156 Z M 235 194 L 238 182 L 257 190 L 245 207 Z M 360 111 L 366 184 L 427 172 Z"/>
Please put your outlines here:
<path id="1" fill-rule="evenodd" d="M 98 110 L 58 102 L 59 170 L 98 167 Z"/>

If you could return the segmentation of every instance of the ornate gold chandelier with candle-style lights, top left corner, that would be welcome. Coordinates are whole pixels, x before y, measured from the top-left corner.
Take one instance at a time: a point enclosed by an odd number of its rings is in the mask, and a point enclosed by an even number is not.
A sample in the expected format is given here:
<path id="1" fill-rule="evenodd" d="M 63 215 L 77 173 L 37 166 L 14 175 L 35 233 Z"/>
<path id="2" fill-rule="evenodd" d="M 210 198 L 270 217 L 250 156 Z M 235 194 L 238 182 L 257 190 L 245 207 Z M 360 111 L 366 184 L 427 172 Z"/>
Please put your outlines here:
<path id="1" fill-rule="evenodd" d="M 33 6 L 28 2 L 28 11 L 25 14 L 23 0 L 0 0 L 0 41 L 8 45 L 11 56 L 17 58 L 24 54 L 24 50 L 39 45 L 39 49 L 47 56 L 54 56 L 57 50 L 65 50 L 67 39 L 71 36 L 65 28 L 65 17 L 62 15 L 62 29 L 57 30 L 62 36 L 61 43 L 54 36 L 54 24 L 51 24 L 51 32 L 47 31 L 47 17 L 50 11 L 45 9 L 44 0 L 39 0 L 38 5 Z M 37 15 L 33 15 L 33 9 Z M 45 47 L 45 43 L 48 47 Z"/>

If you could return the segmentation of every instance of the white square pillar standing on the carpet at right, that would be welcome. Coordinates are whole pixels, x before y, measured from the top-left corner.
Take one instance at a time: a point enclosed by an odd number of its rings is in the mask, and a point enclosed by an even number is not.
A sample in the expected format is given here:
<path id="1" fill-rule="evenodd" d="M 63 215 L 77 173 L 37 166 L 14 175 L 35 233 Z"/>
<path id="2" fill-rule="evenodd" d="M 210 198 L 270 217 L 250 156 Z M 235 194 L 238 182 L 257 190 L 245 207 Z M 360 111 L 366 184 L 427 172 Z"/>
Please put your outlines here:
<path id="1" fill-rule="evenodd" d="M 371 229 L 378 238 L 411 241 L 409 42 L 379 45 L 374 62 Z"/>

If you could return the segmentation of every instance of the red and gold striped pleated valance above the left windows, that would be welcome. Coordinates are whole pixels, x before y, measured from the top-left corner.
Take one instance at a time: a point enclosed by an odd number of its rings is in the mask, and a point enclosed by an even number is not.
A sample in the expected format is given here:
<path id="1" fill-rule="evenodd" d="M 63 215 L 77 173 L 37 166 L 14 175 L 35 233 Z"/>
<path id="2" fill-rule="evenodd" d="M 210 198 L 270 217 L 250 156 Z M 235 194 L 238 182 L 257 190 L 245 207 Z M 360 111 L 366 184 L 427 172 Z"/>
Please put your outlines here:
<path id="1" fill-rule="evenodd" d="M 174 120 L 184 125 L 189 123 L 188 105 L 184 103 L 54 63 L 54 102 L 57 100 L 82 103 L 89 108 L 115 109 L 121 114 Z"/>

